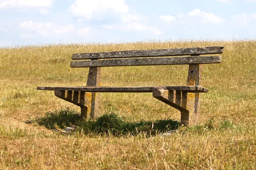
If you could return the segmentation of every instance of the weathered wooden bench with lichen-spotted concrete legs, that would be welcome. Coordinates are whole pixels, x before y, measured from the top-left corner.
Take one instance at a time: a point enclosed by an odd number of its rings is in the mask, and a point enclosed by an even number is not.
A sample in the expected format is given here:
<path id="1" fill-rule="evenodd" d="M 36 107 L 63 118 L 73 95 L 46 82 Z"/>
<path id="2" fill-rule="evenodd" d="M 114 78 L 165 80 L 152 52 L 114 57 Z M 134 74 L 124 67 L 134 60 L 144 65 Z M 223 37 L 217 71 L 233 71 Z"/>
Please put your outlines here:
<path id="1" fill-rule="evenodd" d="M 180 123 L 188 125 L 198 122 L 200 93 L 208 92 L 200 85 L 202 64 L 220 63 L 221 56 L 202 54 L 222 54 L 223 46 L 152 49 L 133 51 L 111 51 L 73 54 L 71 68 L 88 67 L 87 85 L 84 87 L 38 87 L 38 90 L 55 91 L 55 96 L 81 107 L 81 116 L 86 119 L 98 112 L 98 92 L 152 93 L 153 97 L 181 112 Z M 180 57 L 170 57 L 180 56 Z M 189 65 L 184 86 L 159 87 L 100 87 L 101 67 L 136 65 Z M 150 76 L 150 75 L 149 75 Z"/>

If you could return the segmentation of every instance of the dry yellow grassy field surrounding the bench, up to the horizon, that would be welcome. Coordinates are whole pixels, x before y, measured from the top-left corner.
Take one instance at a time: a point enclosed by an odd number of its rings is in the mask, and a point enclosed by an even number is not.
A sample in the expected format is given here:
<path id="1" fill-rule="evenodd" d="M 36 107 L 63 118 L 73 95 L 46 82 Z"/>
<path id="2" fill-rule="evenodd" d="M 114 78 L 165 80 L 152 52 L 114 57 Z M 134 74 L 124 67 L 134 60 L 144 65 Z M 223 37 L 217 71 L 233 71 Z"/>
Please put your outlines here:
<path id="1" fill-rule="evenodd" d="M 223 45 L 221 64 L 203 65 L 201 124 L 171 136 L 147 131 L 62 134 L 39 120 L 79 108 L 37 86 L 85 86 L 73 53 Z M 102 68 L 102 86 L 185 85 L 188 65 Z M 256 169 L 256 41 L 177 41 L 0 48 L 0 169 Z M 100 113 L 130 124 L 180 113 L 152 94 L 102 93 Z M 49 112 L 48 112 L 49 113 Z M 53 119 L 54 121 L 54 119 Z M 49 127 L 49 126 L 48 126 Z"/>

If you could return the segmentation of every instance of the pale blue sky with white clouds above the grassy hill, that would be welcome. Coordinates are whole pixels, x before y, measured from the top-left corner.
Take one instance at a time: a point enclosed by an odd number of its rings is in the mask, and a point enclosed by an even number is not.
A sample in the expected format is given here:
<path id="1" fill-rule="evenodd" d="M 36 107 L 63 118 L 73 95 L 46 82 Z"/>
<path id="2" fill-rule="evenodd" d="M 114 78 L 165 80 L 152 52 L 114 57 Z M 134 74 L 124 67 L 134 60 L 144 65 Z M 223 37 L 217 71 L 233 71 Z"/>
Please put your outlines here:
<path id="1" fill-rule="evenodd" d="M 256 0 L 0 0 L 0 47 L 256 39 Z"/>

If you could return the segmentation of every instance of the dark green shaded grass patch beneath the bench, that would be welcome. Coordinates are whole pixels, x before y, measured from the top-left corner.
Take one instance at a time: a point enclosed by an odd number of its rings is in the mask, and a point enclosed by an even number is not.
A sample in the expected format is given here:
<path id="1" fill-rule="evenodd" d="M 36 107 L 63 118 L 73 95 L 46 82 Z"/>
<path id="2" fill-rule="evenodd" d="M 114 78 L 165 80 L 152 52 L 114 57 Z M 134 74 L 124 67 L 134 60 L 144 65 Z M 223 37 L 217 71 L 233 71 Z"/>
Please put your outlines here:
<path id="1" fill-rule="evenodd" d="M 74 110 L 61 109 L 60 111 L 47 112 L 44 117 L 27 123 L 35 122 L 38 125 L 44 125 L 48 129 L 64 129 L 68 126 L 76 126 L 79 133 L 95 134 L 95 135 L 138 135 L 145 133 L 155 135 L 163 133 L 167 130 L 177 129 L 178 121 L 170 119 L 157 120 L 156 122 L 144 121 L 127 122 L 122 116 L 111 111 L 105 113 L 96 119 L 89 119 L 88 121 L 81 121 L 79 113 Z"/>

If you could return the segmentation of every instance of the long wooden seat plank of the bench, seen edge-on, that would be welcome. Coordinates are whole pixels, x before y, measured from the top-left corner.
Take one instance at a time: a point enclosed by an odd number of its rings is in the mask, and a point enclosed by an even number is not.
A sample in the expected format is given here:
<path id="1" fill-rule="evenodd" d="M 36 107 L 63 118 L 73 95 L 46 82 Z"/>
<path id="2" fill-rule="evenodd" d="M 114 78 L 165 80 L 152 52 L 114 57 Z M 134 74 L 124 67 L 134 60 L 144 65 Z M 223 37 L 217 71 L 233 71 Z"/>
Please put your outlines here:
<path id="1" fill-rule="evenodd" d="M 154 90 L 175 90 L 183 92 L 208 92 L 201 86 L 154 86 L 154 87 L 37 87 L 38 90 L 47 91 L 84 91 L 84 92 L 118 92 L 118 93 L 150 93 Z"/>

